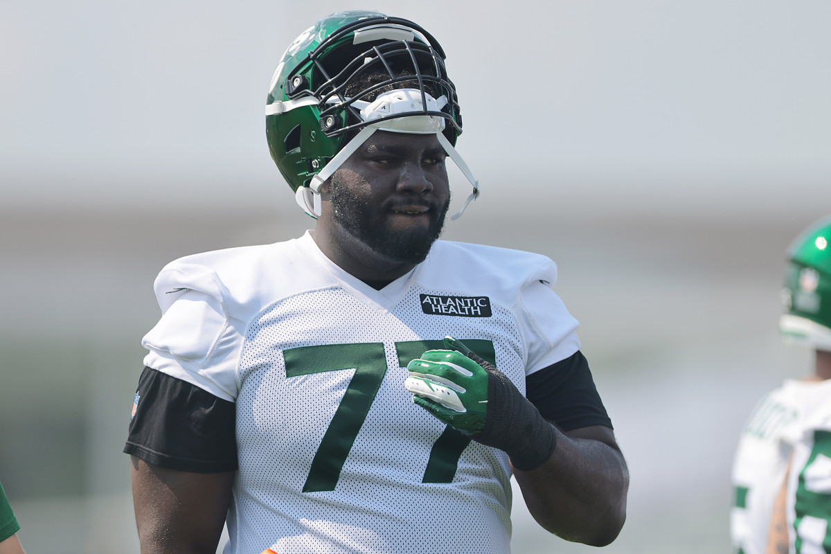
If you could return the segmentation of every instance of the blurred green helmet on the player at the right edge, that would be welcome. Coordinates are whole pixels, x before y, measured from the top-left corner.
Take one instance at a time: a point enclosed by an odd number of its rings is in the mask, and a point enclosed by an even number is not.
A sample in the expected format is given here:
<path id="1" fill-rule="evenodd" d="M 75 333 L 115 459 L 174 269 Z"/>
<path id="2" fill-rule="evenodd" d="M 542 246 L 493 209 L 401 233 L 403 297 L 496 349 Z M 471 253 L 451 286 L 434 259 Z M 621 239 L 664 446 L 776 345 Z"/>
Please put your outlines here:
<path id="1" fill-rule="evenodd" d="M 831 217 L 791 244 L 782 298 L 779 329 L 785 338 L 831 351 Z"/>

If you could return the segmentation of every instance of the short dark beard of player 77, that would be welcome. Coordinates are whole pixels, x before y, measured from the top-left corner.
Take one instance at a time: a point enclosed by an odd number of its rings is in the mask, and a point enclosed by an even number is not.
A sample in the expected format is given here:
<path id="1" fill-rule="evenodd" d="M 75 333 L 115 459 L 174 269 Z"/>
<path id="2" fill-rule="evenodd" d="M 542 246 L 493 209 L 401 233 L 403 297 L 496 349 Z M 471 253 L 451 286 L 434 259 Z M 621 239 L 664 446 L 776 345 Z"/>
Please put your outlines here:
<path id="1" fill-rule="evenodd" d="M 337 179 L 332 179 L 330 193 L 335 226 L 360 243 L 353 246 L 365 251 L 361 257 L 366 265 L 381 271 L 424 262 L 441 235 L 450 207 L 448 197 L 444 205 L 431 206 L 430 223 L 426 227 L 396 229 L 387 225 L 386 210 L 379 210 L 347 187 L 338 186 Z M 372 259 L 366 259 L 369 257 Z"/>

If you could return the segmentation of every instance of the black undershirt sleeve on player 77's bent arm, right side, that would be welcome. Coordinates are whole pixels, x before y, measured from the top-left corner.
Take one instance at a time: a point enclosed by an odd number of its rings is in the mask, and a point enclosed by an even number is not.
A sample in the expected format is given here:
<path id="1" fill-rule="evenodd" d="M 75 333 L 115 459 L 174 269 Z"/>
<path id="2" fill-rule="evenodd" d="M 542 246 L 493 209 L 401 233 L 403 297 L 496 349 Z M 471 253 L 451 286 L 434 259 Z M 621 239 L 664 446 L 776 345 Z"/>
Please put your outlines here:
<path id="1" fill-rule="evenodd" d="M 612 427 L 597 387 L 588 369 L 588 360 L 577 351 L 565 360 L 534 371 L 525 377 L 526 398 L 543 418 L 563 431 L 603 425 Z"/>

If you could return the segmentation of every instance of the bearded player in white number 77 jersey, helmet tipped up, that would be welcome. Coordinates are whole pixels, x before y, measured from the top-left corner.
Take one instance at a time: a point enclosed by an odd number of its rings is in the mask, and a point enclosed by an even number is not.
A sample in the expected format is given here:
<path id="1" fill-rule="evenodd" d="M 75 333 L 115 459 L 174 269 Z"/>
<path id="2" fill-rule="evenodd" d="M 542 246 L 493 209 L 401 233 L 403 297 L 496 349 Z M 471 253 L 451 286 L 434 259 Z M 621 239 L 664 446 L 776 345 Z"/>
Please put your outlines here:
<path id="1" fill-rule="evenodd" d="M 498 91 L 488 91 L 494 94 Z M 155 281 L 125 452 L 142 552 L 509 552 L 536 520 L 603 545 L 628 473 L 547 257 L 437 240 L 455 142 L 445 52 L 340 12 L 274 72 L 271 155 L 301 238 L 181 258 Z"/>

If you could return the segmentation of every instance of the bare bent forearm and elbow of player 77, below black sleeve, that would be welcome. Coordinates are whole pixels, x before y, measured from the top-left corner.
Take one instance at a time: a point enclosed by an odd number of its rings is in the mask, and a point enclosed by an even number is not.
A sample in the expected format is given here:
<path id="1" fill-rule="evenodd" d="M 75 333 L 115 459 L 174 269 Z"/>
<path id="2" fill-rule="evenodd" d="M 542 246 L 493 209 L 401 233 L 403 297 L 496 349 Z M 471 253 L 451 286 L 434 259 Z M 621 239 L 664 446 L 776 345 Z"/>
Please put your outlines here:
<path id="1" fill-rule="evenodd" d="M 514 469 L 525 504 L 558 537 L 605 546 L 626 520 L 626 461 L 608 427 L 556 433 L 557 444 L 546 463 L 528 472 Z"/>

